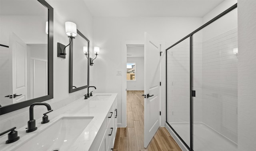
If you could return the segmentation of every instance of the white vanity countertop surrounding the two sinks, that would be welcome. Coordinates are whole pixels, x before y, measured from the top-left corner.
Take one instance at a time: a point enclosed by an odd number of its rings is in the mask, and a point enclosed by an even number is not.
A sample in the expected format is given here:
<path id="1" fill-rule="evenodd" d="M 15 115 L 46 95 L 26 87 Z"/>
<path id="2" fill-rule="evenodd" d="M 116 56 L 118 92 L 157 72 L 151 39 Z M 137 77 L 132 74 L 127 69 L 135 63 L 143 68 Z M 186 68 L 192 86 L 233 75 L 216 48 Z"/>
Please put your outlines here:
<path id="1" fill-rule="evenodd" d="M 90 101 L 96 95 L 111 95 L 111 96 L 107 100 Z M 88 151 L 104 119 L 106 118 L 106 115 L 108 114 L 108 111 L 111 105 L 116 99 L 116 96 L 117 96 L 117 93 L 94 93 L 94 96 L 88 99 L 84 99 L 84 97 L 82 97 L 60 109 L 57 109 L 57 110 L 53 109 L 52 112 L 47 114 L 50 119 L 49 123 L 41 124 L 42 118 L 36 119 L 36 127 L 38 128 L 36 131 L 26 133 L 25 128 L 27 126 L 24 126 L 20 129 L 16 129 L 16 131 L 18 131 L 18 136 L 20 137 L 18 141 L 10 144 L 5 144 L 5 141 L 8 139 L 7 134 L 1 137 L 0 150 L 1 151 L 15 150 L 17 146 L 24 144 L 26 141 L 36 136 L 38 133 L 40 133 L 40 131 L 46 129 L 61 117 L 90 116 L 90 117 L 93 117 L 92 121 L 90 121 L 90 123 L 84 129 L 84 131 L 80 134 L 78 139 L 74 141 L 72 147 L 68 149 L 68 151 Z M 34 112 L 36 112 L 36 110 Z M 29 148 L 28 148 L 28 151 L 29 151 Z"/>

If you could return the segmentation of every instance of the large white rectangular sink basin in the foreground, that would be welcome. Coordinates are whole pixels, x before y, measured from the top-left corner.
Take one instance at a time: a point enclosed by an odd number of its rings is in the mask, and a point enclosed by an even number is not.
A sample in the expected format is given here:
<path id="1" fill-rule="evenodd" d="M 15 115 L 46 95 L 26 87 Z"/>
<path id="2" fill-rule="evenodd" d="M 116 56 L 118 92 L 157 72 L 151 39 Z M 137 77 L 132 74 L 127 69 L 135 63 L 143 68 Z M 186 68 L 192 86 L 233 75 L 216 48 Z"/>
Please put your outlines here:
<path id="1" fill-rule="evenodd" d="M 62 117 L 14 150 L 69 150 L 92 119 L 93 117 Z"/>

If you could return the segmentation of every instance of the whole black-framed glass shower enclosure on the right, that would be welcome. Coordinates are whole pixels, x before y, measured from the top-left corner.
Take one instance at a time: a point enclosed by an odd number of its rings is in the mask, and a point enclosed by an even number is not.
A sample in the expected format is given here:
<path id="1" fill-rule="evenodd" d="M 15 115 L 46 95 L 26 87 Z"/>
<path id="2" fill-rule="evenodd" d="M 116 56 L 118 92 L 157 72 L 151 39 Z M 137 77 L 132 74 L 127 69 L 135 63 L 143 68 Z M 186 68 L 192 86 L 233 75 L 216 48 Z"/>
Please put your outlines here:
<path id="1" fill-rule="evenodd" d="M 237 4 L 166 49 L 166 124 L 189 151 L 236 151 Z"/>

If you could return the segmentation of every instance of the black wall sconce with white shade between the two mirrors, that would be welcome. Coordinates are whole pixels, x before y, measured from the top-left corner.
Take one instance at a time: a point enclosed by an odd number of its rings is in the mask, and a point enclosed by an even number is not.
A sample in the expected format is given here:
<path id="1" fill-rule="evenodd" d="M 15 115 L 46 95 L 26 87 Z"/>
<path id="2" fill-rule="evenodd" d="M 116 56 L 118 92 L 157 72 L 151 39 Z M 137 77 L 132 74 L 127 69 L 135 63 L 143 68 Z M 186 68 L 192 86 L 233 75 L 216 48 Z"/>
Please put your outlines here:
<path id="1" fill-rule="evenodd" d="M 66 47 L 72 43 L 73 39 L 75 39 L 75 36 L 77 35 L 75 23 L 65 22 L 65 29 L 68 38 L 70 38 L 70 43 L 67 46 L 60 44 L 59 42 L 57 43 L 57 57 L 60 58 L 66 58 Z"/>

